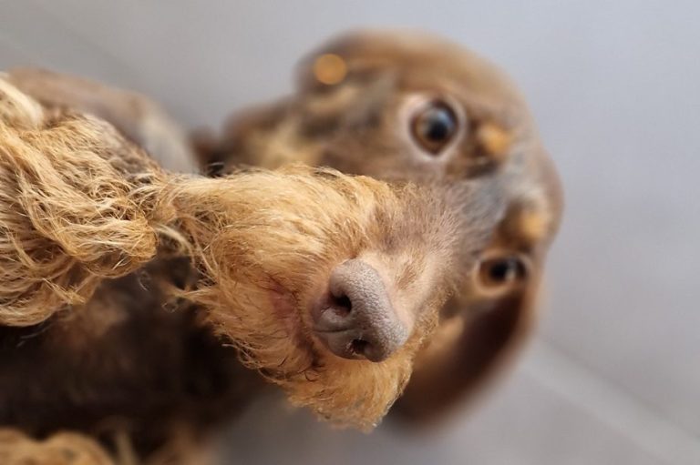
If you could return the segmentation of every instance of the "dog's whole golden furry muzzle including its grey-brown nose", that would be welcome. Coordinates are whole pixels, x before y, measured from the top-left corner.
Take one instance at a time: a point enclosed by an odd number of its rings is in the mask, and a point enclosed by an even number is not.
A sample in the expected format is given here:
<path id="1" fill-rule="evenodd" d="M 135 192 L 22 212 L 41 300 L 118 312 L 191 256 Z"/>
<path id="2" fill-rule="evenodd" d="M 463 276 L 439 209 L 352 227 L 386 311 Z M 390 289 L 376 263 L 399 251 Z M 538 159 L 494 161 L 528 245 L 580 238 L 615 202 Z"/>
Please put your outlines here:
<path id="1" fill-rule="evenodd" d="M 185 297 L 293 403 L 369 428 L 502 213 L 475 188 L 465 222 L 441 188 L 308 168 L 189 181 L 173 205 L 204 278 Z"/>

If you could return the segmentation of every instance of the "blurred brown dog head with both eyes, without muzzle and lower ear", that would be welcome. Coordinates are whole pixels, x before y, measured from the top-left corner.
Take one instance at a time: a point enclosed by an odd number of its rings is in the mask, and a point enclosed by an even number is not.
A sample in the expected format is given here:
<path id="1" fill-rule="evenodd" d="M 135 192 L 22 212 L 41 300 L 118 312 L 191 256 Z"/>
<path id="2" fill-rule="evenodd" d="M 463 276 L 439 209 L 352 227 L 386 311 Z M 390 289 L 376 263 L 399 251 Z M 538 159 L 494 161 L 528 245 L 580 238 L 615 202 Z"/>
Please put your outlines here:
<path id="1" fill-rule="evenodd" d="M 205 161 L 223 172 L 304 161 L 453 185 L 502 177 L 511 212 L 479 274 L 489 297 L 530 273 L 520 252 L 549 244 L 561 214 L 558 179 L 510 80 L 479 56 L 425 35 L 364 33 L 324 46 L 302 62 L 296 95 L 234 116 Z"/>

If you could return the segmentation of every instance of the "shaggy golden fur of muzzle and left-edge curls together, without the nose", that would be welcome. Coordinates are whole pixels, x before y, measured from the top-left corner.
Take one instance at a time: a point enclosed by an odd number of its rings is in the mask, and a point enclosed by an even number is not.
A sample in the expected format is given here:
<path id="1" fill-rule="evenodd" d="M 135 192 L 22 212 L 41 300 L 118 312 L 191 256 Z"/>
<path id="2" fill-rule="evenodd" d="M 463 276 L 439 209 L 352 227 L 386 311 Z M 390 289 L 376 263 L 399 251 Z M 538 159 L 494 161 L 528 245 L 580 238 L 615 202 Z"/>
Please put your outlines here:
<path id="1" fill-rule="evenodd" d="M 476 255 L 493 222 L 460 224 L 445 193 L 330 169 L 174 176 L 107 123 L 47 110 L 2 79 L 0 118 L 0 324 L 81 311 L 101 280 L 186 255 L 199 281 L 172 295 L 293 403 L 340 425 L 386 414 L 454 285 L 455 257 Z M 487 215 L 475 202 L 459 205 Z M 390 268 L 404 288 L 431 283 L 411 338 L 378 363 L 335 357 L 310 330 L 332 269 L 367 254 L 400 258 Z"/>

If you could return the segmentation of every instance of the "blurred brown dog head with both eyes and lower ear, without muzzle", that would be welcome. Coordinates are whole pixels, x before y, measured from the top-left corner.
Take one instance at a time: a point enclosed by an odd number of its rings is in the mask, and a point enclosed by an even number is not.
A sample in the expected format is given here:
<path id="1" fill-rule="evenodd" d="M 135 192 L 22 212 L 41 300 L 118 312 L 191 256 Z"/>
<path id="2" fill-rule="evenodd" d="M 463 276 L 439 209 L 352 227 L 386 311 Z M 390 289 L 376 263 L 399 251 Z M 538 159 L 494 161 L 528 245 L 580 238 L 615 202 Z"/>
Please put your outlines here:
<path id="1" fill-rule="evenodd" d="M 529 329 L 561 187 L 520 93 L 461 46 L 396 32 L 341 36 L 302 61 L 293 96 L 233 116 L 202 153 L 214 173 L 302 161 L 454 189 L 499 180 L 507 213 L 477 272 L 442 309 L 443 349 L 423 352 L 422 366 L 431 368 L 412 382 L 425 387 L 415 395 L 425 412 L 472 389 Z"/>

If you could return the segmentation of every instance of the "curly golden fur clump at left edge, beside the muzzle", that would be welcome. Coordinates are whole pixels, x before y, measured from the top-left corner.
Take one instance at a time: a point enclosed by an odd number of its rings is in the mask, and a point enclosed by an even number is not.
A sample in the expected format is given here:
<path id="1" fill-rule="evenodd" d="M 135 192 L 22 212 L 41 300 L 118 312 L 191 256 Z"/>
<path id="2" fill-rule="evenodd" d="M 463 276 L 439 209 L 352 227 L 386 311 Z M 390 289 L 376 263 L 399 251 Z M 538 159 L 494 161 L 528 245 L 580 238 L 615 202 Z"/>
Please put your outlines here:
<path id="1" fill-rule="evenodd" d="M 157 170 L 108 124 L 46 114 L 2 80 L 0 117 L 0 323 L 26 326 L 155 256 L 153 188 L 125 173 Z"/>

